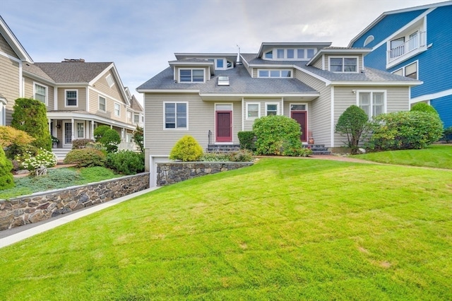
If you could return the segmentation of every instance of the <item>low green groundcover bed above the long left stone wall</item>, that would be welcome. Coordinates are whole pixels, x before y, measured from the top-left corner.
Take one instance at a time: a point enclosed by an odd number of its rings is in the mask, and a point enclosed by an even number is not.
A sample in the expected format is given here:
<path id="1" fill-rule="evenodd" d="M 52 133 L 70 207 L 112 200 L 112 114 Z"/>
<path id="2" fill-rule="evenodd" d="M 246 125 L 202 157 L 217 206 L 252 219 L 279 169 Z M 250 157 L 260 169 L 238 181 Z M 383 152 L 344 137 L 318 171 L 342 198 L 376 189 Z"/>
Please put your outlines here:
<path id="1" fill-rule="evenodd" d="M 105 167 L 85 167 L 76 169 L 57 168 L 47 170 L 47 175 L 34 177 L 17 177 L 14 179 L 16 187 L 0 191 L 0 199 L 9 199 L 15 196 L 25 196 L 40 191 L 66 188 L 76 185 L 100 182 L 105 179 L 121 177 Z"/>

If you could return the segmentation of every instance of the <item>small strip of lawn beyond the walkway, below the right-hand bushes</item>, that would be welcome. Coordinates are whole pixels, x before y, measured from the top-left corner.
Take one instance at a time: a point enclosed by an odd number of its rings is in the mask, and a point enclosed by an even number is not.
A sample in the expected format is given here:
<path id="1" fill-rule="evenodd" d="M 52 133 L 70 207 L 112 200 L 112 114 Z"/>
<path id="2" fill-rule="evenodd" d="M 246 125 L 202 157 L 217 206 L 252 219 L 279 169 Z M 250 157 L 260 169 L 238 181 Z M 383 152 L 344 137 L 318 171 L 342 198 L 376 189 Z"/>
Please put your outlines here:
<path id="1" fill-rule="evenodd" d="M 378 163 L 446 168 L 452 170 L 452 146 L 432 145 L 429 148 L 409 151 L 385 151 L 354 155 L 353 158 Z"/>

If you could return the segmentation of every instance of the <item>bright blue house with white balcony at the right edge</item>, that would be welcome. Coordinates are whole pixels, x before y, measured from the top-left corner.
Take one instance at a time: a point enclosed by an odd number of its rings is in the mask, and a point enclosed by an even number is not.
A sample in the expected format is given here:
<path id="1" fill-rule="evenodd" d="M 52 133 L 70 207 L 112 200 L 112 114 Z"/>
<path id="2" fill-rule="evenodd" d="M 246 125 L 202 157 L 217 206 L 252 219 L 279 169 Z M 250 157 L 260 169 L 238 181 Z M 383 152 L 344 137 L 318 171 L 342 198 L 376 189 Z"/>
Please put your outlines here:
<path id="1" fill-rule="evenodd" d="M 348 46 L 371 49 L 367 67 L 422 81 L 410 104 L 429 103 L 452 126 L 452 1 L 382 13 Z"/>

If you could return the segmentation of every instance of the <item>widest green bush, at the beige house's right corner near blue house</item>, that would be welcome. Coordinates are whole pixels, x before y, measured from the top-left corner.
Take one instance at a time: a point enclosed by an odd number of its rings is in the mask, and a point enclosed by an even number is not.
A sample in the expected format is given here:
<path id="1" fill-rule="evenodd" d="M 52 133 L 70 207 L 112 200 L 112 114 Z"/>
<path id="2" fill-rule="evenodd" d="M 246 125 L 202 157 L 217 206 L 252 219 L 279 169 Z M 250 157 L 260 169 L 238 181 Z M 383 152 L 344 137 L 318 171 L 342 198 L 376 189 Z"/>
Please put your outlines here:
<path id="1" fill-rule="evenodd" d="M 371 131 L 370 151 L 419 149 L 441 138 L 443 123 L 431 112 L 393 112 L 374 117 Z"/>

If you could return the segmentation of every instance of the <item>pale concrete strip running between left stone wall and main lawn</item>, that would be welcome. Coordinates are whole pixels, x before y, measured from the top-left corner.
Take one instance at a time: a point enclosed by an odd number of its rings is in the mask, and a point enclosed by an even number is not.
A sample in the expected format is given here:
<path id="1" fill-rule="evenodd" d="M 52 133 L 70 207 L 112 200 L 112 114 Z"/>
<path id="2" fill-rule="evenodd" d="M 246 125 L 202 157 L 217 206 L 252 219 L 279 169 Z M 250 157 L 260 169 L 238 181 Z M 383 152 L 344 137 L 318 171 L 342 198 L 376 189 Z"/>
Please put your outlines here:
<path id="1" fill-rule="evenodd" d="M 132 199 L 135 196 L 140 196 L 141 194 L 148 193 L 158 188 L 160 187 L 148 188 L 142 191 L 138 191 L 134 194 L 129 194 L 128 196 L 122 196 L 119 199 L 100 203 L 98 205 L 83 208 L 71 213 L 61 214 L 61 216 L 49 218 L 48 220 L 44 220 L 40 223 L 31 223 L 28 225 L 0 231 L 0 248 L 6 247 L 15 242 L 20 242 L 20 240 L 25 240 L 26 238 L 32 237 L 33 235 L 37 235 L 47 230 L 56 228 L 59 225 L 64 225 L 65 223 L 69 223 L 72 220 L 83 218 L 83 216 L 88 216 L 91 213 L 101 211 L 102 209 L 114 206 L 118 203 L 122 203 L 123 201 Z"/>

